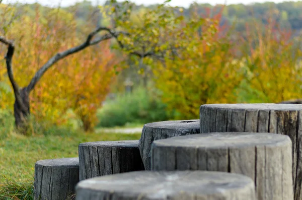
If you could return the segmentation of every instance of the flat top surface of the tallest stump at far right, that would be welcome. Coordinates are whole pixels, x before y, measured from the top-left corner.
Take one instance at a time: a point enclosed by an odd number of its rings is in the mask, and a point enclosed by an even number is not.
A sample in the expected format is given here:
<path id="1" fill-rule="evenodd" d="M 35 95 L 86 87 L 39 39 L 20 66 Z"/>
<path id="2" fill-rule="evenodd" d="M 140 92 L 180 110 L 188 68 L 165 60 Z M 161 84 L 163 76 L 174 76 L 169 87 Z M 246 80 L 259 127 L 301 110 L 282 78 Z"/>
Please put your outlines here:
<path id="1" fill-rule="evenodd" d="M 283 103 L 239 103 L 239 104 L 205 104 L 202 107 L 225 108 L 225 109 L 254 109 L 254 110 L 302 110 L 302 104 Z"/>

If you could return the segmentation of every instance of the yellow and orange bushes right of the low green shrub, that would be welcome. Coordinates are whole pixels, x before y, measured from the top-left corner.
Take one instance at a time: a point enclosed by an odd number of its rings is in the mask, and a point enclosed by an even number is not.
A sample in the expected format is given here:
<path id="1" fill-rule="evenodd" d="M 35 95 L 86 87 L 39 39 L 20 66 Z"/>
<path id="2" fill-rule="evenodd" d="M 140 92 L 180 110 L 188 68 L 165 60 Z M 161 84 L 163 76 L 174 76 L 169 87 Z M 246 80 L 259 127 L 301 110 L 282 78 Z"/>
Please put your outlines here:
<path id="1" fill-rule="evenodd" d="M 221 8 L 221 7 L 220 7 Z M 221 12 L 204 19 L 202 31 L 188 39 L 180 56 L 154 68 L 175 118 L 198 118 L 198 107 L 209 103 L 278 103 L 301 98 L 301 39 L 267 13 L 265 23 L 254 19 L 246 31 L 221 23 Z"/>

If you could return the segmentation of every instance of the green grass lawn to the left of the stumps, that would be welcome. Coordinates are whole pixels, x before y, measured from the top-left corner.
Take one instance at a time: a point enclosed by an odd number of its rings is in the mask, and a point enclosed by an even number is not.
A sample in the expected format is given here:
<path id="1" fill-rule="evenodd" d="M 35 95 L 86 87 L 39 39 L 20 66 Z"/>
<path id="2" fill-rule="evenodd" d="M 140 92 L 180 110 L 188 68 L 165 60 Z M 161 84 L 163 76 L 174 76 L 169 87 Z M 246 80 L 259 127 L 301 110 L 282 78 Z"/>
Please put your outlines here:
<path id="1" fill-rule="evenodd" d="M 84 134 L 83 132 L 69 132 L 63 135 L 21 136 L 10 134 L 0 140 L 0 199 L 32 199 L 5 197 L 4 187 L 13 185 L 11 192 L 32 190 L 34 180 L 34 165 L 38 160 L 77 157 L 80 143 L 93 141 L 138 140 L 140 134 L 113 134 L 98 132 Z M 18 186 L 19 185 L 19 186 Z M 20 191 L 14 191 L 21 188 Z M 31 191 L 25 191 L 25 193 Z M 24 196 L 24 195 L 23 195 Z"/>

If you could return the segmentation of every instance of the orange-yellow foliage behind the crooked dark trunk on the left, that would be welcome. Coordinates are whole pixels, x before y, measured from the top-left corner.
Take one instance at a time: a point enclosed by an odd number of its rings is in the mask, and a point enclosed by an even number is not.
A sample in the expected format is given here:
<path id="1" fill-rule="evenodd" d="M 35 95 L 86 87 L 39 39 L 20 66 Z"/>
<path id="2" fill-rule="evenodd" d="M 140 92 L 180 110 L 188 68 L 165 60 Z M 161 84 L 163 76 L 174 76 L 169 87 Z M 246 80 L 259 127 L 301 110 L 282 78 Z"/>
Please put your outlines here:
<path id="1" fill-rule="evenodd" d="M 20 87 L 26 86 L 54 53 L 78 45 L 95 28 L 93 24 L 86 24 L 79 32 L 71 13 L 52 9 L 42 15 L 40 9 L 36 7 L 34 17 L 21 16 L 5 35 L 15 40 L 13 66 Z M 113 66 L 117 62 L 110 50 L 110 41 L 59 61 L 31 93 L 31 112 L 38 120 L 58 125 L 65 124 L 70 117 L 79 118 L 85 130 L 92 130 L 97 121 L 96 110 L 109 92 L 115 75 Z M 5 63 L 1 65 L 0 82 L 9 85 Z M 0 106 L 12 108 L 13 92 L 2 90 L 1 93 Z M 76 116 L 66 115 L 68 109 L 72 109 Z"/>

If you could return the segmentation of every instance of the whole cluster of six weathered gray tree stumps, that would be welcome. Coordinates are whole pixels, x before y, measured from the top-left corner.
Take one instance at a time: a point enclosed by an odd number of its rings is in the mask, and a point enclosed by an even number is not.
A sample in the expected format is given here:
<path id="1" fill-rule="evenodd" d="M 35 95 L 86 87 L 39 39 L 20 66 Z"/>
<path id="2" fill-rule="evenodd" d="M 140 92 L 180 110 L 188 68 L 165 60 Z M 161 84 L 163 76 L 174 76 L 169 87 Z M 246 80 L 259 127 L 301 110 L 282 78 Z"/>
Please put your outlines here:
<path id="1" fill-rule="evenodd" d="M 83 143 L 80 182 L 64 174 L 72 174 L 67 161 L 52 163 L 59 171 L 39 161 L 35 197 L 63 199 L 56 194 L 77 184 L 78 200 L 300 200 L 301 111 L 298 104 L 208 104 L 200 120 L 145 124 L 139 141 Z"/>

